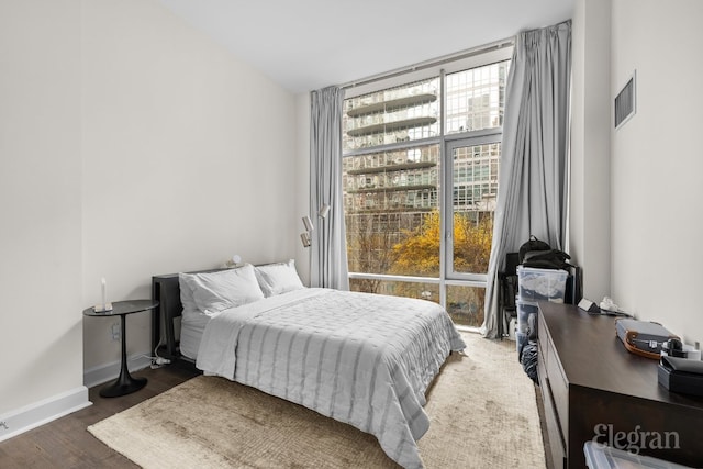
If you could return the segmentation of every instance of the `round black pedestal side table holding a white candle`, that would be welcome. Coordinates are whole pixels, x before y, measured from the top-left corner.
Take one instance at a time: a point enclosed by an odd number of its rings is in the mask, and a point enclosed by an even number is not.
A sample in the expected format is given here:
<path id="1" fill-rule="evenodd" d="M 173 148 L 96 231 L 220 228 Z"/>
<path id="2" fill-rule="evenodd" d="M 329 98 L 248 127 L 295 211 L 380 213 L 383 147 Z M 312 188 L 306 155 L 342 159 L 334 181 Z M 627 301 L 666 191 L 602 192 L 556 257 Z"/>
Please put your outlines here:
<path id="1" fill-rule="evenodd" d="M 87 308 L 83 310 L 86 316 L 107 317 L 107 316 L 120 316 L 120 323 L 122 325 L 122 365 L 120 369 L 120 377 L 111 384 L 103 387 L 100 390 L 100 395 L 103 398 L 118 398 L 146 386 L 146 378 L 132 378 L 130 370 L 127 370 L 127 353 L 126 353 L 126 334 L 125 322 L 126 315 L 132 313 L 140 313 L 142 311 L 150 311 L 158 306 L 158 301 L 153 300 L 129 300 L 129 301 L 115 301 L 112 303 L 112 310 L 110 311 L 96 311 L 93 308 Z"/>

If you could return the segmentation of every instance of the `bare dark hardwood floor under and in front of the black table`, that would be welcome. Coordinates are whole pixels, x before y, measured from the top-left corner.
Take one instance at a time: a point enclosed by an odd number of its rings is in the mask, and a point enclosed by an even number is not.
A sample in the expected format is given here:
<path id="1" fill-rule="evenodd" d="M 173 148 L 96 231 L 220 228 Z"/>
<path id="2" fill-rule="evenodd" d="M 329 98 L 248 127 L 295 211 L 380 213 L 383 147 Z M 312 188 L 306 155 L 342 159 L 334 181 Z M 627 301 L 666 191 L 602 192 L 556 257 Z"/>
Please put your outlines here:
<path id="1" fill-rule="evenodd" d="M 199 375 L 194 369 L 168 365 L 132 373 L 146 377 L 145 388 L 121 398 L 101 398 L 102 384 L 89 390 L 92 405 L 0 443 L 0 468 L 138 468 L 86 429 Z"/>

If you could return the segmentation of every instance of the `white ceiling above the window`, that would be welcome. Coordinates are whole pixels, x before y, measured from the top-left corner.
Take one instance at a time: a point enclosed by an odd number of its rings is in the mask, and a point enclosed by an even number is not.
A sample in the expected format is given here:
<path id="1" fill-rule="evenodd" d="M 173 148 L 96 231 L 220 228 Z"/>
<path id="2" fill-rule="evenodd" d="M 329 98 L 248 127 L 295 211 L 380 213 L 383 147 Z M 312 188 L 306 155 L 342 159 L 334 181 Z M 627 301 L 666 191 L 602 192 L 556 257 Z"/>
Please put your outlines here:
<path id="1" fill-rule="evenodd" d="M 342 85 L 570 19 L 576 0 L 159 0 L 282 87 Z"/>

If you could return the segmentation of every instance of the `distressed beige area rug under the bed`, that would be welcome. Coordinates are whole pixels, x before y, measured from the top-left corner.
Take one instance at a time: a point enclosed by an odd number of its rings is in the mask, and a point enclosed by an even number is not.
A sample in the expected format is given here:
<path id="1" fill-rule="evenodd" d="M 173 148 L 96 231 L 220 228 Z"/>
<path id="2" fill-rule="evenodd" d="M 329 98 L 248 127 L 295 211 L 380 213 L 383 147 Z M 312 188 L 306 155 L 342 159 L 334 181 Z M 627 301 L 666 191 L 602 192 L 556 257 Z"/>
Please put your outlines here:
<path id="1" fill-rule="evenodd" d="M 433 383 L 425 467 L 544 468 L 535 388 L 513 342 L 464 334 Z M 88 427 L 144 468 L 397 468 L 376 438 L 223 378 L 197 377 Z"/>

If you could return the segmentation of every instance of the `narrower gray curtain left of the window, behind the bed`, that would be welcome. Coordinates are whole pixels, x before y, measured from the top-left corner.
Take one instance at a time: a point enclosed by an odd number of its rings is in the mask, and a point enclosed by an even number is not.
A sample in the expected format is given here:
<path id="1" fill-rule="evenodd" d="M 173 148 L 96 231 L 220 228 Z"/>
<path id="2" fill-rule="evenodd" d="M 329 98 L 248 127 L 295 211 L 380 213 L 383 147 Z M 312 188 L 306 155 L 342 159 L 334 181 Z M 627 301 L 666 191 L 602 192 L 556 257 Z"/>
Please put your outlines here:
<path id="1" fill-rule="evenodd" d="M 349 289 L 342 200 L 342 112 L 344 90 L 328 87 L 311 93 L 310 213 L 312 232 L 311 287 Z M 317 216 L 330 205 L 325 219 Z"/>

